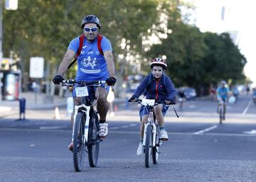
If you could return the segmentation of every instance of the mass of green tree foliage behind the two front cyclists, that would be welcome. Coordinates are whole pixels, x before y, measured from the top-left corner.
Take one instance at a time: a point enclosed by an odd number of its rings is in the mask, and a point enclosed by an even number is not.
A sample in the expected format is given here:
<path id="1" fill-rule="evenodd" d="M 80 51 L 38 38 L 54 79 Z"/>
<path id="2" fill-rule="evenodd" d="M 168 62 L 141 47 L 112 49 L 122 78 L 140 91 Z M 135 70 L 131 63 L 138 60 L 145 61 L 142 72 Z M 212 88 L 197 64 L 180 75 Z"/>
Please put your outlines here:
<path id="1" fill-rule="evenodd" d="M 112 42 L 119 76 L 131 72 L 127 62 L 131 55 L 147 72 L 148 62 L 142 60 L 166 55 L 169 65 L 166 72 L 176 86 L 199 88 L 221 79 L 234 82 L 245 79 L 242 70 L 246 59 L 228 33 L 201 33 L 198 28 L 186 25 L 181 21 L 180 6 L 176 0 L 19 1 L 18 10 L 4 10 L 4 57 L 9 57 L 10 51 L 21 57 L 24 72 L 28 72 L 29 57 L 44 57 L 50 63 L 49 79 L 55 74 L 70 40 L 82 33 L 82 17 L 95 14 L 102 23 L 102 35 Z M 159 44 L 142 44 L 152 33 L 167 34 L 167 38 L 159 36 Z M 150 50 L 145 51 L 146 47 Z M 69 70 L 68 77 L 74 74 L 75 67 Z"/>

